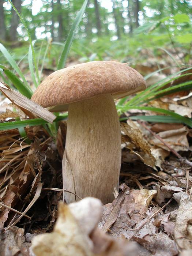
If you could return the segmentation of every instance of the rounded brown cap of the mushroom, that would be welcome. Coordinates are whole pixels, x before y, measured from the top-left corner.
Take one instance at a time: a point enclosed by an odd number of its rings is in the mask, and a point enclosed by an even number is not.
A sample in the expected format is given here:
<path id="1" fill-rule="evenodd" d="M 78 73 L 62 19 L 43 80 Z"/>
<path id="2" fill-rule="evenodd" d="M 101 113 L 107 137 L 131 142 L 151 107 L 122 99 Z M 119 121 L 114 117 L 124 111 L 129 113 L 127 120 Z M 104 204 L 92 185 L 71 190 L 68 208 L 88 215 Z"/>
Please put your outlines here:
<path id="1" fill-rule="evenodd" d="M 101 94 L 114 99 L 146 89 L 135 69 L 117 61 L 91 61 L 57 70 L 43 80 L 32 100 L 50 111 L 66 111 L 68 104 Z"/>

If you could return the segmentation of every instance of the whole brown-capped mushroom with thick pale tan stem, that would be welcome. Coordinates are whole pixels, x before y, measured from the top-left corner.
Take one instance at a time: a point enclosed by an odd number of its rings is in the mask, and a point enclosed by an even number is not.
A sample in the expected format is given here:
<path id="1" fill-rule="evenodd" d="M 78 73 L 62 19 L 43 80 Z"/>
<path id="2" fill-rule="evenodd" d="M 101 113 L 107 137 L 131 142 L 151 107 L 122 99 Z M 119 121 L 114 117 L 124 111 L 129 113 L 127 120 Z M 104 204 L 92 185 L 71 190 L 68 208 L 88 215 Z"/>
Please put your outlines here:
<path id="1" fill-rule="evenodd" d="M 118 189 L 121 166 L 120 123 L 114 99 L 146 88 L 143 77 L 117 61 L 92 61 L 49 75 L 32 100 L 50 111 L 68 110 L 63 156 L 64 188 L 106 204 Z M 78 198 L 64 193 L 67 203 Z"/>

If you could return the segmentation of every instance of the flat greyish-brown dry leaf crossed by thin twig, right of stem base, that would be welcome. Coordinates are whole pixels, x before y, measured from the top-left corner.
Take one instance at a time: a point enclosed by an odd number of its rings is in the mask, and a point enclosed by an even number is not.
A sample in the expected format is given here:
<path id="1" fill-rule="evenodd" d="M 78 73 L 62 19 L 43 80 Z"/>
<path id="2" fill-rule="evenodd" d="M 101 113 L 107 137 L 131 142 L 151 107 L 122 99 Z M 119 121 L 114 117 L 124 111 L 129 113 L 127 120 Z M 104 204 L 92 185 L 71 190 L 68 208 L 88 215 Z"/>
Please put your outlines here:
<path id="1" fill-rule="evenodd" d="M 129 238 L 135 232 L 135 228 L 142 224 L 142 220 L 144 219 L 144 214 L 146 213 L 151 200 L 157 193 L 156 190 L 148 190 L 148 189 L 131 189 L 128 191 L 127 195 L 125 195 L 124 202 L 121 204 L 120 211 L 118 213 L 118 217 L 116 222 L 110 228 L 111 235 L 113 237 L 121 237 L 123 234 L 124 237 Z M 105 225 L 105 222 L 108 220 L 113 209 L 113 203 L 106 204 L 103 206 L 102 219 L 99 222 L 99 227 L 102 228 Z M 148 212 L 145 217 L 148 218 Z M 153 214 L 153 212 L 151 212 Z M 133 229 L 132 229 L 133 228 Z M 151 229 L 153 232 L 156 232 L 156 227 L 153 225 L 153 220 L 150 221 L 150 225 L 148 222 L 144 225 L 136 236 L 144 237 L 147 234 L 151 234 Z"/>

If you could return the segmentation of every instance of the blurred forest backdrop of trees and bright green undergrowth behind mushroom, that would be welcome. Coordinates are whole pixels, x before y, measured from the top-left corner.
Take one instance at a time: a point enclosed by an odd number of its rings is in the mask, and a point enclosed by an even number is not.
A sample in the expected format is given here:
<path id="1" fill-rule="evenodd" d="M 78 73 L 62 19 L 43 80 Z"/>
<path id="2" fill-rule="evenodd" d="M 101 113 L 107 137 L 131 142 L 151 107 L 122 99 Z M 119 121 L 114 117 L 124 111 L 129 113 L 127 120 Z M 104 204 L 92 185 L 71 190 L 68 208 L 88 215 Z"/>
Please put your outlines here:
<path id="1" fill-rule="evenodd" d="M 52 38 L 53 42 L 64 42 L 83 0 L 13 0 L 12 3 L 25 20 L 32 40 Z M 153 49 L 153 54 L 159 55 L 162 51 L 157 47 L 170 46 L 175 53 L 181 46 L 183 55 L 179 58 L 188 64 L 191 20 L 191 0 L 89 0 L 76 30 L 71 56 L 82 57 L 81 61 L 107 57 L 123 62 L 139 56 L 141 62 L 147 57 L 142 49 Z M 27 53 L 27 31 L 8 1 L 0 0 L 0 24 L 0 42 L 8 47 L 26 46 L 14 50 L 16 59 Z M 52 50 L 54 56 L 59 54 L 58 47 L 55 51 Z M 51 59 L 50 56 L 49 64 L 54 65 Z"/>

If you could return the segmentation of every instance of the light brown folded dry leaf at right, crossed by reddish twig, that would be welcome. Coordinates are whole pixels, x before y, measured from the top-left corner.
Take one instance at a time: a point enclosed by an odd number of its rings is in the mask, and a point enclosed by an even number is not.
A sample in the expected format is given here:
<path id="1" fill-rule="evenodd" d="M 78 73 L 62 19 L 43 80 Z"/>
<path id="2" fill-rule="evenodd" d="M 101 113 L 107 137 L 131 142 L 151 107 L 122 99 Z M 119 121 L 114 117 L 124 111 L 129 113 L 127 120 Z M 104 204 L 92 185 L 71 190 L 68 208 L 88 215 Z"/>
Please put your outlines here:
<path id="1" fill-rule="evenodd" d="M 171 148 L 174 148 L 175 151 L 188 151 L 189 143 L 187 139 L 188 129 L 183 127 L 177 130 L 170 130 L 165 132 L 159 132 L 159 135 L 166 143 L 170 145 Z M 170 151 L 159 139 L 153 138 L 150 140 L 152 145 L 156 147 L 163 148 L 167 151 Z"/>

